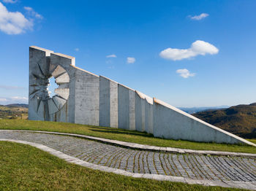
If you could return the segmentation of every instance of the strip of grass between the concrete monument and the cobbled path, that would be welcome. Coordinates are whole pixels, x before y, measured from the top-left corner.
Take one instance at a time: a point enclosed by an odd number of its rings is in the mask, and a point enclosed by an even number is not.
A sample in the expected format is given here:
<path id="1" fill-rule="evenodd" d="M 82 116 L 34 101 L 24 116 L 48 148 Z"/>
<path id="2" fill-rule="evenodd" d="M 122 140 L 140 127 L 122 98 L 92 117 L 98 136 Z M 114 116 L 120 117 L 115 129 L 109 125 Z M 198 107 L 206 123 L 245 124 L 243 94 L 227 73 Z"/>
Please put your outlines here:
<path id="1" fill-rule="evenodd" d="M 148 144 L 159 147 L 176 147 L 183 149 L 218 150 L 229 152 L 248 152 L 256 154 L 256 147 L 237 144 L 200 143 L 182 140 L 154 138 L 151 134 L 135 130 L 103 128 L 90 125 L 78 125 L 64 122 L 42 122 L 29 120 L 0 120 L 0 129 L 14 130 L 47 130 L 61 133 L 77 133 L 87 136 L 97 136 L 105 139 L 128 141 L 138 144 Z M 256 143 L 256 140 L 250 140 Z"/>

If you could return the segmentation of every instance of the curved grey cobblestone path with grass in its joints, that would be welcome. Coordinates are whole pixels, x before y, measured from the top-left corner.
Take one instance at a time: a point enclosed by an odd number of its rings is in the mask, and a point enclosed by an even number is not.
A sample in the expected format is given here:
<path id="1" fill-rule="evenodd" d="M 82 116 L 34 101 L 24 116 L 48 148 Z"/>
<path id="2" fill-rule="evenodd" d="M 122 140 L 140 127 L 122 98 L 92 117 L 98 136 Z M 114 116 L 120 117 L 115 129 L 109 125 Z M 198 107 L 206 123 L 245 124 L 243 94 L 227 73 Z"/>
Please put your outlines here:
<path id="1" fill-rule="evenodd" d="M 0 139 L 15 139 L 42 144 L 89 163 L 135 174 L 179 176 L 213 182 L 241 182 L 241 184 L 248 183 L 245 188 L 256 189 L 256 159 L 249 157 L 151 152 L 49 133 L 3 130 L 0 131 Z"/>

